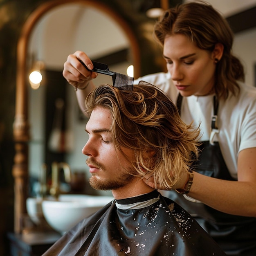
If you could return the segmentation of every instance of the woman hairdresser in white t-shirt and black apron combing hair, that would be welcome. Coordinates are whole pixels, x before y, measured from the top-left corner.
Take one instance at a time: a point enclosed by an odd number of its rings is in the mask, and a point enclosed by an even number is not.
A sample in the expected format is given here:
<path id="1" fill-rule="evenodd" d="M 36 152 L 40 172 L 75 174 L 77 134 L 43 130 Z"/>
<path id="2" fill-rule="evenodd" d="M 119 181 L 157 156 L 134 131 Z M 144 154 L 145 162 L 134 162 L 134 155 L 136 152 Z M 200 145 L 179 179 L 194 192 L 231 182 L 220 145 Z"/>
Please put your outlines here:
<path id="1" fill-rule="evenodd" d="M 256 255 L 256 88 L 243 83 L 243 66 L 231 52 L 231 29 L 211 5 L 188 2 L 166 11 L 154 34 L 163 46 L 168 73 L 139 80 L 168 93 L 183 121 L 201 128 L 200 160 L 168 192 L 170 198 L 227 255 Z M 79 60 L 92 69 L 88 56 L 77 51 L 68 56 L 63 75 L 83 89 L 76 92 L 83 109 L 97 74 Z M 155 186 L 150 178 L 144 181 Z"/>

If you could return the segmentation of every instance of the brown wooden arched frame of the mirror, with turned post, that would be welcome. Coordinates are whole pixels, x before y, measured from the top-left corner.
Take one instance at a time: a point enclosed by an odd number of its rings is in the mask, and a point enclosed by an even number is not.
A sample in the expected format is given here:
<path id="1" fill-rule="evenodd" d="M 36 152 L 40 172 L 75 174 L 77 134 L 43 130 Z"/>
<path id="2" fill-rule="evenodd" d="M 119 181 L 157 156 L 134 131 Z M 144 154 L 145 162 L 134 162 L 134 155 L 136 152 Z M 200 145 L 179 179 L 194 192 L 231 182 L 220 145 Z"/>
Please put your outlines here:
<path id="1" fill-rule="evenodd" d="M 53 0 L 41 4 L 27 18 L 22 27 L 17 44 L 17 76 L 16 76 L 16 112 L 13 123 L 13 139 L 15 145 L 14 164 L 12 175 L 14 178 L 14 232 L 22 232 L 22 216 L 26 211 L 28 196 L 28 149 L 29 149 L 29 120 L 28 120 L 28 78 L 27 78 L 27 52 L 31 32 L 38 20 L 54 7 L 63 4 L 82 4 L 94 7 L 106 13 L 123 28 L 131 47 L 134 76 L 140 74 L 140 51 L 137 38 L 130 26 L 115 11 L 101 2 L 94 0 Z"/>

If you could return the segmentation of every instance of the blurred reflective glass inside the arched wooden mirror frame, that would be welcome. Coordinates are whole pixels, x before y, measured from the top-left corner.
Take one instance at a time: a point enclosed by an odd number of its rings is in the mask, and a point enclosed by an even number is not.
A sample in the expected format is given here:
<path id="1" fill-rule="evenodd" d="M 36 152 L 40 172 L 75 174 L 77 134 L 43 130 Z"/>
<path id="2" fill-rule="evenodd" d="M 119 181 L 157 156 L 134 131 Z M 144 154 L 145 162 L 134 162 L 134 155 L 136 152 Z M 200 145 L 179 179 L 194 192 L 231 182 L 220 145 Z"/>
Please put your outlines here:
<path id="1" fill-rule="evenodd" d="M 89 175 L 86 157 L 81 153 L 87 141 L 84 131 L 86 118 L 78 109 L 74 89 L 61 77 L 68 54 L 77 49 L 92 60 L 107 63 L 115 72 L 126 74 L 126 69 L 132 64 L 125 32 L 115 20 L 94 7 L 66 4 L 52 9 L 39 20 L 28 49 L 31 67 L 36 61 L 44 63 L 40 87 L 29 89 L 32 138 L 29 175 L 34 180 L 38 180 L 40 168 L 45 163 L 49 176 L 49 167 L 54 161 L 67 162 L 72 173 Z M 112 80 L 99 74 L 95 83 L 111 84 Z M 32 187 L 32 195 L 39 191 L 38 184 Z"/>

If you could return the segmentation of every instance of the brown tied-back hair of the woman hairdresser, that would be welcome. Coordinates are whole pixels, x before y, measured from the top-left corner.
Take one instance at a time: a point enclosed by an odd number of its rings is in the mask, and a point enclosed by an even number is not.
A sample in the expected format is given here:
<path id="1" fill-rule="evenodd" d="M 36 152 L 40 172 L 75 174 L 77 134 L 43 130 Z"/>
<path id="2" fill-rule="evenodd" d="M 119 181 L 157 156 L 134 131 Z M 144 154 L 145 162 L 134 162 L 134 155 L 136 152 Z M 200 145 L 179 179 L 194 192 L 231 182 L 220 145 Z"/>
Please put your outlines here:
<path id="1" fill-rule="evenodd" d="M 166 36 L 184 34 L 198 48 L 212 52 L 217 43 L 224 46 L 216 65 L 215 92 L 227 99 L 229 92 L 239 92 L 237 81 L 244 81 L 244 68 L 232 52 L 233 33 L 225 18 L 210 4 L 188 2 L 168 9 L 155 24 L 154 35 L 161 45 Z"/>

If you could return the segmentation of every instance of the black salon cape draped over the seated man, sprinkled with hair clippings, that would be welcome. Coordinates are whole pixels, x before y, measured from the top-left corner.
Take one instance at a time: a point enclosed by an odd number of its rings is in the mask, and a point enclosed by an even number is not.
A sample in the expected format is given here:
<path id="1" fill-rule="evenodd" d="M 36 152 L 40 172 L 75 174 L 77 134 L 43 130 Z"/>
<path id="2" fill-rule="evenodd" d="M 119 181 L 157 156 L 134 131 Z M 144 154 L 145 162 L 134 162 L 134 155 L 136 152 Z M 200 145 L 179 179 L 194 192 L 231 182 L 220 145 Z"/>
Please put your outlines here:
<path id="1" fill-rule="evenodd" d="M 226 254 L 184 209 L 160 195 L 157 202 L 142 209 L 120 210 L 115 201 L 110 202 L 79 222 L 43 254 L 57 255 Z"/>

